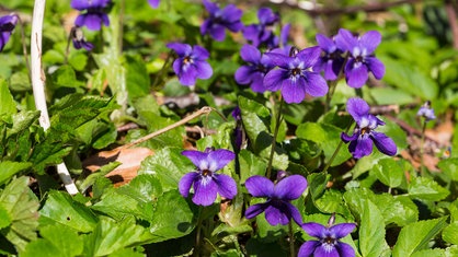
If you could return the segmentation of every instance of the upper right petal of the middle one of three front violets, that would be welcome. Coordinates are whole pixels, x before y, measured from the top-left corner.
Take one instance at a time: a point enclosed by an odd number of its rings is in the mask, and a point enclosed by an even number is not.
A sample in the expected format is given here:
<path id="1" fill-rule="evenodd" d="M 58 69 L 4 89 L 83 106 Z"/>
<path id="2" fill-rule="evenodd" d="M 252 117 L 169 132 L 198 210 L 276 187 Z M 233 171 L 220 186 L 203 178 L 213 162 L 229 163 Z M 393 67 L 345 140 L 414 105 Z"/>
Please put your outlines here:
<path id="1" fill-rule="evenodd" d="M 275 185 L 273 197 L 290 201 L 302 195 L 307 188 L 307 179 L 300 175 L 291 175 L 283 178 Z"/>

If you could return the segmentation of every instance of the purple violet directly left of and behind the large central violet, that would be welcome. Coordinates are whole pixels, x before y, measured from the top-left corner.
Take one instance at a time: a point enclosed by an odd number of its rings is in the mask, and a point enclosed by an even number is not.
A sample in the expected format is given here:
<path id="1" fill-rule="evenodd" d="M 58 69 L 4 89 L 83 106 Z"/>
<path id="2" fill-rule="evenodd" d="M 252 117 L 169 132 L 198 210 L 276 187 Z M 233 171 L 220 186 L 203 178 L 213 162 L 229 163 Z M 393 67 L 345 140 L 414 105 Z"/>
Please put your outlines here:
<path id="1" fill-rule="evenodd" d="M 274 68 L 267 55 L 261 55 L 260 50 L 251 45 L 244 45 L 240 56 L 248 66 L 241 66 L 236 71 L 236 81 L 239 84 L 250 84 L 256 93 L 265 92 L 264 75 Z"/>

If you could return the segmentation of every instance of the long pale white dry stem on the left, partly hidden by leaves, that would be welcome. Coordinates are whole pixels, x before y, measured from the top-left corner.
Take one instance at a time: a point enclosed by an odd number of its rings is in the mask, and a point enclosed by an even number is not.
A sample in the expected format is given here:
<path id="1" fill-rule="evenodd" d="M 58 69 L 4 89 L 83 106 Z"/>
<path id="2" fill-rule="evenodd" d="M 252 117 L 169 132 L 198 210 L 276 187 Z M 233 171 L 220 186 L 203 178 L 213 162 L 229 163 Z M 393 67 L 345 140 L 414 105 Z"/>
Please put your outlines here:
<path id="1" fill-rule="evenodd" d="M 45 97 L 46 77 L 42 67 L 42 31 L 43 17 L 45 14 L 46 0 L 35 0 L 32 19 L 31 35 L 31 75 L 35 106 L 41 112 L 39 125 L 47 130 L 50 126 L 48 109 Z M 65 163 L 57 165 L 57 173 L 70 195 L 78 194 L 78 188 L 71 179 L 70 173 Z"/>

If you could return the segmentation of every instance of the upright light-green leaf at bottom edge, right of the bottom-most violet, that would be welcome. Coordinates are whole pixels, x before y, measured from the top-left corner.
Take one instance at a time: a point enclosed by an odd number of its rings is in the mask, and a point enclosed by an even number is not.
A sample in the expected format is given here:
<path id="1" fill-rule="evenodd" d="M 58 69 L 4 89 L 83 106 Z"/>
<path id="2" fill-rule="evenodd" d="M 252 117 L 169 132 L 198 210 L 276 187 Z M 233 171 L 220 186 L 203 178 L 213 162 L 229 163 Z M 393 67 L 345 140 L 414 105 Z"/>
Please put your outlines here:
<path id="1" fill-rule="evenodd" d="M 365 257 L 379 257 L 387 248 L 383 217 L 374 202 L 365 200 L 359 227 L 360 253 Z"/>

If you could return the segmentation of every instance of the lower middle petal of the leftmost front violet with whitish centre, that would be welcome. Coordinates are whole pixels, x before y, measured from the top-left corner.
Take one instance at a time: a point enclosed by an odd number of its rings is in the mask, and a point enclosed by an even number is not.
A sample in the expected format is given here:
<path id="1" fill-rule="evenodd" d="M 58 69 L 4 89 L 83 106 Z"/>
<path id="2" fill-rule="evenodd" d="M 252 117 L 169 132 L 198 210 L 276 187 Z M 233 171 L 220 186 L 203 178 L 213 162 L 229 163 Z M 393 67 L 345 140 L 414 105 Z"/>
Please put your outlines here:
<path id="1" fill-rule="evenodd" d="M 211 177 L 201 176 L 194 182 L 193 202 L 199 206 L 211 206 L 218 192 L 218 185 Z"/>

